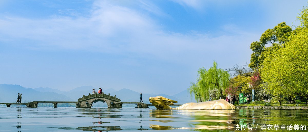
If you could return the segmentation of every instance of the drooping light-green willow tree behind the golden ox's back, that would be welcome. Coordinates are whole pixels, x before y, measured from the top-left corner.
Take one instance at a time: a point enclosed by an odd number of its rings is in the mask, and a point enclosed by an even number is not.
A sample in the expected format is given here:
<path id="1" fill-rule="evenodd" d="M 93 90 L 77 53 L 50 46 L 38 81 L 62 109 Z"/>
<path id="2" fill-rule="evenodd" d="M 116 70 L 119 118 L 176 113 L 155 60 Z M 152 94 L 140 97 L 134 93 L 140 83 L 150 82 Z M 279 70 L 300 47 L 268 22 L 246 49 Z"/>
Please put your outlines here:
<path id="1" fill-rule="evenodd" d="M 200 91 L 200 99 L 218 99 L 218 97 L 224 97 L 223 91 L 229 86 L 229 77 L 227 71 L 217 68 L 217 63 L 214 61 L 213 66 L 206 70 L 205 68 L 200 68 L 198 70 L 199 77 L 197 83 L 191 83 L 192 85 L 188 89 L 190 91 L 190 96 L 194 93 L 193 88 Z M 199 93 L 194 93 L 199 94 Z M 195 97 L 197 100 L 197 97 Z"/>

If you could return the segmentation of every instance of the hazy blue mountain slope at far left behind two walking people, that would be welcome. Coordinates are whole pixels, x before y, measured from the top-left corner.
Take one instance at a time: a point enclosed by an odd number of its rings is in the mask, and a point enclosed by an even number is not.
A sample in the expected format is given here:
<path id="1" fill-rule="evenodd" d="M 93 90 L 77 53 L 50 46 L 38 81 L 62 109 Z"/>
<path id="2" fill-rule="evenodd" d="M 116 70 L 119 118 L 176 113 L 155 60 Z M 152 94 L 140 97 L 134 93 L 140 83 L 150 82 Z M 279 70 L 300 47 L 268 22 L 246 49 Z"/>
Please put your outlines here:
<path id="1" fill-rule="evenodd" d="M 39 92 L 19 85 L 0 84 L 0 102 L 16 102 L 18 93 L 22 93 L 24 101 L 75 101 L 63 94 L 54 92 Z"/>

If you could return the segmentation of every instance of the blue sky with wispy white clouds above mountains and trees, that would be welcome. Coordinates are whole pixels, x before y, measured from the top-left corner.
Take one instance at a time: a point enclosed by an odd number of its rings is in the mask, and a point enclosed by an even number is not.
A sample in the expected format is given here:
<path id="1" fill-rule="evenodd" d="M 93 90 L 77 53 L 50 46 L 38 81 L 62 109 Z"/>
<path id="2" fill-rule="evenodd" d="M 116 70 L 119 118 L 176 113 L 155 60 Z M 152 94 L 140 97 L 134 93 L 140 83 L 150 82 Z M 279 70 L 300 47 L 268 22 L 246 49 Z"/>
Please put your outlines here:
<path id="1" fill-rule="evenodd" d="M 0 1 L 0 83 L 176 94 L 213 60 L 249 63 L 250 43 L 307 1 Z M 91 91 L 91 90 L 90 90 Z"/>

